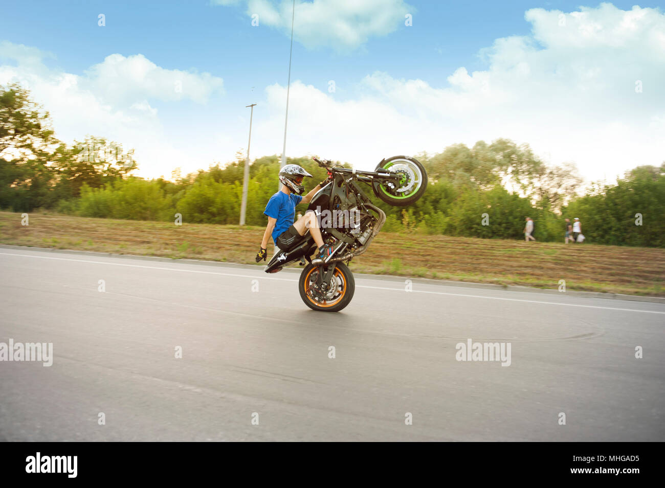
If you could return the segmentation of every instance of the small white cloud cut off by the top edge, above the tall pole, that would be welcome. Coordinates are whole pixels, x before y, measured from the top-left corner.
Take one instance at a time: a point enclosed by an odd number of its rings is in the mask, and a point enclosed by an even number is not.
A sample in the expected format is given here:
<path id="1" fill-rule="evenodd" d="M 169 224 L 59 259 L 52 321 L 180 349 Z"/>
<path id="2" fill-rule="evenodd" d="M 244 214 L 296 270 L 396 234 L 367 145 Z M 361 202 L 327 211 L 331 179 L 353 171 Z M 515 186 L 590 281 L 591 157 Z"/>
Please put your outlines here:
<path id="1" fill-rule="evenodd" d="M 221 5 L 239 3 L 217 0 Z M 258 15 L 259 27 L 267 25 L 291 35 L 308 48 L 328 46 L 337 51 L 358 48 L 370 39 L 388 35 L 404 25 L 405 15 L 416 9 L 403 0 L 247 0 L 247 15 Z"/>

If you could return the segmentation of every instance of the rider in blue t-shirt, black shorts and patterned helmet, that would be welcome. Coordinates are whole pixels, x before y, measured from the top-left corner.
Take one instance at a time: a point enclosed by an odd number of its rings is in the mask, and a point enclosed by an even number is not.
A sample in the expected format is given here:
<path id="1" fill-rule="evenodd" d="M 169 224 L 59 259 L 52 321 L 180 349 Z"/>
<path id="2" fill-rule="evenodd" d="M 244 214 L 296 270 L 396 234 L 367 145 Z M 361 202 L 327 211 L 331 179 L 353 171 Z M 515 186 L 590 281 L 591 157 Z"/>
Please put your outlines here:
<path id="1" fill-rule="evenodd" d="M 323 244 L 321 237 L 321 229 L 319 228 L 319 221 L 314 210 L 307 210 L 305 215 L 301 216 L 298 220 L 293 222 L 295 217 L 295 206 L 299 203 L 309 203 L 314 197 L 315 193 L 326 185 L 330 179 L 326 178 L 321 181 L 311 192 L 307 193 L 305 197 L 301 197 L 305 191 L 303 187 L 303 179 L 305 177 L 312 177 L 305 169 L 299 165 L 286 165 L 279 171 L 279 181 L 282 183 L 281 189 L 275 193 L 268 204 L 265 206 L 263 212 L 268 216 L 268 225 L 263 233 L 263 240 L 261 240 L 261 250 L 256 255 L 256 262 L 265 261 L 267 258 L 266 248 L 268 246 L 268 237 L 272 234 L 275 245 L 281 250 L 286 250 L 293 244 L 296 236 L 303 236 L 307 229 L 312 234 L 314 242 L 316 242 L 318 249 L 312 264 L 323 264 L 323 260 L 331 255 L 332 250 L 330 244 Z M 295 193 L 295 195 L 293 195 Z"/>

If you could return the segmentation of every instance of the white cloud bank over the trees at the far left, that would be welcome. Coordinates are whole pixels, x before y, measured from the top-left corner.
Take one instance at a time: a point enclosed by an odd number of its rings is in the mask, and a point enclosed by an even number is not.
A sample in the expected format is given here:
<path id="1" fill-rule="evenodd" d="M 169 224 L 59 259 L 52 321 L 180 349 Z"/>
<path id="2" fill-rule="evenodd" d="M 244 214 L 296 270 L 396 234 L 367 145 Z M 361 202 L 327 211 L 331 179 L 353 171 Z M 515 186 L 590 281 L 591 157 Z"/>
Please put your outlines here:
<path id="1" fill-rule="evenodd" d="M 177 166 L 193 171 L 213 160 L 207 147 L 192 147 L 185 137 L 182 143 L 170 139 L 150 100 L 202 104 L 223 91 L 221 78 L 166 70 L 141 54 L 112 54 L 78 76 L 47 67 L 43 61 L 52 54 L 6 41 L 0 43 L 0 57 L 15 63 L 0 66 L 0 84 L 19 82 L 29 88 L 50 112 L 56 136 L 67 143 L 89 134 L 134 147 L 139 174 L 145 177 L 170 177 Z"/>

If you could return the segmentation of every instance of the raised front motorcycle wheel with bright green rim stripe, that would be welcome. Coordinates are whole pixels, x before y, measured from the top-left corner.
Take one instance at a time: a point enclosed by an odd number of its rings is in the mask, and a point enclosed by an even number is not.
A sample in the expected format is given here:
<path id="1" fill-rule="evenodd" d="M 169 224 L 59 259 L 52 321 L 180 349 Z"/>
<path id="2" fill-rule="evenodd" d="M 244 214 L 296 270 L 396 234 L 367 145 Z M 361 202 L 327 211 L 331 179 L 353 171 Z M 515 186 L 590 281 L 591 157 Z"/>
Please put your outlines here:
<path id="1" fill-rule="evenodd" d="M 410 205 L 420 199 L 427 188 L 427 172 L 418 159 L 409 156 L 393 156 L 384 159 L 374 171 L 390 171 L 399 177 L 399 183 L 374 181 L 374 195 L 393 206 Z"/>

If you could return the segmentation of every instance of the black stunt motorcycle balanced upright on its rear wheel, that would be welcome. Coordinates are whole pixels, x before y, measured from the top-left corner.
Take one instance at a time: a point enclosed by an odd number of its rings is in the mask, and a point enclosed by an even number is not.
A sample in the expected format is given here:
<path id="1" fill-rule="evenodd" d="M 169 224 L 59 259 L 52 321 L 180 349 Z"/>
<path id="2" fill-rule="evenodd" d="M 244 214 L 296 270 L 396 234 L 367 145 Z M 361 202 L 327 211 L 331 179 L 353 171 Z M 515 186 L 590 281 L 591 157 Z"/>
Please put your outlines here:
<path id="1" fill-rule="evenodd" d="M 321 237 L 331 244 L 332 253 L 323 264 L 313 265 L 311 256 L 317 245 L 307 230 L 287 250 L 279 250 L 264 270 L 276 273 L 293 262 L 301 261 L 304 266 L 307 260 L 298 284 L 301 298 L 311 309 L 337 312 L 350 303 L 355 291 L 349 262 L 367 250 L 386 222 L 385 212 L 372 204 L 358 183 L 370 185 L 385 203 L 406 206 L 424 195 L 427 173 L 420 161 L 408 156 L 382 159 L 374 171 L 313 159 L 327 169 L 330 181 L 314 195 L 307 210 L 316 212 Z"/>

